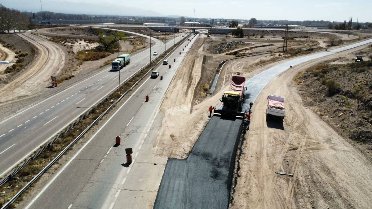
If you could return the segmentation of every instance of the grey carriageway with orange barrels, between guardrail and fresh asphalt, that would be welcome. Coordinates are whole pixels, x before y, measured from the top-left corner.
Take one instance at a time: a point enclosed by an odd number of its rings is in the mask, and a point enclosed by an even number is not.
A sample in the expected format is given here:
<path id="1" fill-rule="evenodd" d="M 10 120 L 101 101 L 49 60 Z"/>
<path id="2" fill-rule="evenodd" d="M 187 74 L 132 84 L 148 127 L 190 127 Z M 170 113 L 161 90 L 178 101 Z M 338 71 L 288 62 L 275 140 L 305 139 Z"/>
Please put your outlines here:
<path id="1" fill-rule="evenodd" d="M 69 160 L 26 208 L 148 208 L 153 205 L 167 158 L 154 157 L 153 147 L 161 117 L 158 109 L 185 51 L 183 44 L 157 70 L 163 76 L 147 78 L 108 121 Z M 181 52 L 181 54 L 179 54 Z M 176 59 L 176 62 L 173 60 Z M 148 102 L 144 102 L 149 95 Z M 121 144 L 114 147 L 115 136 Z M 125 148 L 133 148 L 126 165 Z M 138 180 L 140 179 L 140 180 Z M 136 198 L 137 197 L 137 198 Z"/>

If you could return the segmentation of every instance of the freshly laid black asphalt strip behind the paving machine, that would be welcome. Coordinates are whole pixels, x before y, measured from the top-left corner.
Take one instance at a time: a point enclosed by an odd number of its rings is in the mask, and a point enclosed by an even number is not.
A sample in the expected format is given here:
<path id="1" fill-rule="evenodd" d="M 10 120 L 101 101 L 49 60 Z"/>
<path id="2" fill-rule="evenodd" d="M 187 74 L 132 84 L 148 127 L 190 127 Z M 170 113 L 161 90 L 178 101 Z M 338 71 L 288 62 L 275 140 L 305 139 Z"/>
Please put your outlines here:
<path id="1" fill-rule="evenodd" d="M 241 126 L 213 116 L 187 159 L 168 159 L 154 208 L 228 208 Z"/>

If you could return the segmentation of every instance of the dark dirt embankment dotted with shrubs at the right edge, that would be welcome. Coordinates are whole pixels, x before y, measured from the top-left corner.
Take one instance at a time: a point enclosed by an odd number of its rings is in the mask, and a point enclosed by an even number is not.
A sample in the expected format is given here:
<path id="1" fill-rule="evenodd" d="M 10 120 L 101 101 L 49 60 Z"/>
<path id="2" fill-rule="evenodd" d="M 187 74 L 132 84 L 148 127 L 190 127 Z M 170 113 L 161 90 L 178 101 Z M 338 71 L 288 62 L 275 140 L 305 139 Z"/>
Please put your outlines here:
<path id="1" fill-rule="evenodd" d="M 307 106 L 341 135 L 367 142 L 372 150 L 372 61 L 364 60 L 336 58 L 302 72 L 296 81 Z"/>

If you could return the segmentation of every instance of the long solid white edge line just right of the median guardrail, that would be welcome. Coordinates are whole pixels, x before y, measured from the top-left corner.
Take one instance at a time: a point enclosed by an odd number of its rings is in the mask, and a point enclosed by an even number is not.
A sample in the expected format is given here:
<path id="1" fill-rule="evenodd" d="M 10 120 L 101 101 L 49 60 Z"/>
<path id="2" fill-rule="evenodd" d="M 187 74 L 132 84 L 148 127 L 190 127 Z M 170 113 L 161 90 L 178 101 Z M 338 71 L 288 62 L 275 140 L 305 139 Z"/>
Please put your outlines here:
<path id="1" fill-rule="evenodd" d="M 55 176 L 52 178 L 52 180 L 50 180 L 48 182 L 48 184 L 32 199 L 32 201 L 25 207 L 25 209 L 28 209 L 31 207 L 31 205 L 41 196 L 41 194 L 43 194 L 45 192 L 45 190 L 48 189 L 48 187 L 58 178 L 58 176 L 61 175 L 61 173 L 68 167 L 68 165 L 70 165 L 70 163 L 77 157 L 78 154 L 80 154 L 81 151 L 83 151 L 83 149 L 89 144 L 89 142 L 91 142 L 93 140 L 93 138 L 103 129 L 103 127 L 105 127 L 107 125 L 108 122 L 110 122 L 110 120 L 116 115 L 116 113 L 118 113 L 122 107 L 124 107 L 124 105 L 132 98 L 133 95 L 135 95 L 137 93 L 138 90 L 140 90 L 142 88 L 142 86 L 149 80 L 150 78 L 147 78 L 147 80 L 145 80 L 145 82 L 143 82 L 141 84 L 141 86 L 128 98 L 128 100 L 126 100 L 120 107 L 118 110 L 116 110 L 115 113 L 113 113 L 113 115 L 98 129 L 98 131 L 83 145 L 83 147 L 81 147 L 79 149 L 79 151 L 76 152 L 76 154 L 64 165 L 63 168 L 60 169 L 60 171 L 58 171 L 57 174 L 55 174 Z M 132 161 L 132 163 L 134 163 L 134 160 Z"/>

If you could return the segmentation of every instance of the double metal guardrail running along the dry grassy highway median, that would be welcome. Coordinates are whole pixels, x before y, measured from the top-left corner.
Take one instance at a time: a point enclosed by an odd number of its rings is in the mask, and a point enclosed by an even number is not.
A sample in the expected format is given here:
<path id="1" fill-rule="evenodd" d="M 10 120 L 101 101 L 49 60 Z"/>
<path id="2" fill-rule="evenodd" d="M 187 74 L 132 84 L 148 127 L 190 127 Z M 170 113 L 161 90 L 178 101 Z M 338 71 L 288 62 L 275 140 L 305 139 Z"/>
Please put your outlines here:
<path id="1" fill-rule="evenodd" d="M 23 192 L 25 192 L 30 186 L 31 184 L 33 184 L 39 177 L 41 177 L 42 174 L 44 174 L 57 160 L 59 160 L 59 158 L 65 154 L 65 152 L 68 151 L 69 148 L 71 148 L 90 128 L 92 128 L 92 126 L 98 122 L 110 109 L 112 109 L 113 106 L 116 105 L 116 103 L 118 103 L 126 94 L 129 93 L 129 91 L 131 91 L 138 83 L 140 83 L 140 81 L 148 74 L 150 73 L 158 64 L 160 64 L 160 62 L 163 61 L 164 58 L 166 58 L 174 49 L 176 49 L 177 47 L 179 47 L 180 45 L 183 44 L 183 42 L 185 42 L 187 40 L 187 38 L 189 38 L 189 36 L 186 36 L 185 38 L 183 38 L 180 43 L 176 46 L 172 46 L 171 48 L 167 49 L 166 51 L 164 51 L 163 53 L 161 53 L 160 55 L 162 54 L 165 54 L 167 51 L 169 51 L 167 54 L 164 55 L 163 58 L 161 58 L 152 68 L 150 68 L 150 70 L 148 70 L 136 83 L 134 83 L 121 97 L 119 97 L 119 99 L 117 99 L 108 109 L 105 110 L 105 112 L 103 112 L 100 116 L 98 116 L 98 118 L 96 120 L 94 120 L 86 129 L 84 129 L 83 132 L 81 132 L 81 134 L 79 134 L 75 139 L 74 141 L 72 141 L 69 145 L 67 145 L 67 147 L 65 149 L 63 149 L 60 154 L 58 154 L 46 167 L 44 167 L 38 174 L 36 174 L 35 177 L 33 177 L 33 179 L 31 181 L 29 181 L 15 196 L 12 197 L 12 199 L 10 199 L 1 209 L 5 209 L 7 208 L 10 204 L 12 204 Z M 160 56 L 159 56 L 160 57 Z M 148 65 L 151 65 L 151 63 L 147 64 L 145 67 L 141 68 L 140 70 L 138 70 L 136 73 L 134 73 L 131 77 L 127 78 L 125 81 L 123 81 L 122 85 L 124 85 L 125 83 L 128 83 L 129 80 L 131 80 L 133 77 L 135 77 L 136 75 L 138 75 L 142 70 L 144 70 L 145 68 L 148 67 Z M 86 113 L 84 113 L 83 116 L 81 116 L 79 119 L 77 119 L 73 124 L 71 124 L 70 126 L 68 126 L 64 131 L 62 131 L 60 134 L 58 134 L 54 139 L 52 139 L 47 145 L 45 145 L 43 148 L 41 148 L 38 152 L 36 152 L 34 155 L 32 155 L 31 158 L 29 158 L 25 163 L 23 163 L 22 165 L 20 165 L 15 171 L 13 171 L 8 177 L 6 177 L 5 179 L 3 179 L 1 182 L 0 182 L 0 186 L 2 186 L 3 184 L 5 184 L 7 181 L 9 180 L 12 180 L 12 177 L 15 176 L 20 170 L 22 170 L 23 167 L 25 167 L 31 160 L 33 160 L 34 158 L 38 157 L 38 155 L 40 155 L 45 149 L 49 148 L 51 146 L 51 144 L 53 144 L 55 141 L 57 141 L 61 136 L 63 136 L 66 132 L 70 131 L 74 126 L 76 126 L 77 123 L 79 123 L 81 120 L 83 120 L 87 115 L 89 115 L 90 113 L 93 112 L 94 109 L 96 109 L 99 105 L 101 105 L 103 102 L 105 102 L 106 100 L 108 100 L 108 98 L 110 96 L 112 96 L 112 94 L 114 94 L 116 91 L 119 90 L 119 87 L 116 88 L 115 90 L 113 90 L 108 96 L 106 96 L 104 99 L 102 99 L 99 103 L 97 103 L 94 107 L 92 107 L 92 109 L 90 109 L 89 111 L 87 111 Z"/>

